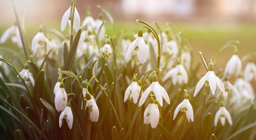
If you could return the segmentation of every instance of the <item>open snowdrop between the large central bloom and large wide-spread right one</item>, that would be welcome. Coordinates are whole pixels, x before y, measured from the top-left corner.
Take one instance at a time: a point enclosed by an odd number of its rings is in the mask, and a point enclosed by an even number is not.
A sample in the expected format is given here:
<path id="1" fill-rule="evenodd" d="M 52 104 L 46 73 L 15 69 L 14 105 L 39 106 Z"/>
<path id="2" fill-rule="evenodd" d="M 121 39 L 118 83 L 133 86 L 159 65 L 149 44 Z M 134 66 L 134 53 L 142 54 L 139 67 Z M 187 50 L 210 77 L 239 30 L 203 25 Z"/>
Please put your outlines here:
<path id="1" fill-rule="evenodd" d="M 186 113 L 186 118 L 187 118 L 188 122 L 190 120 L 191 120 L 191 122 L 194 121 L 193 108 L 188 100 L 188 94 L 185 94 L 184 100 L 176 107 L 176 109 L 174 111 L 174 119 L 173 120 L 175 120 L 179 111 L 183 111 Z"/>

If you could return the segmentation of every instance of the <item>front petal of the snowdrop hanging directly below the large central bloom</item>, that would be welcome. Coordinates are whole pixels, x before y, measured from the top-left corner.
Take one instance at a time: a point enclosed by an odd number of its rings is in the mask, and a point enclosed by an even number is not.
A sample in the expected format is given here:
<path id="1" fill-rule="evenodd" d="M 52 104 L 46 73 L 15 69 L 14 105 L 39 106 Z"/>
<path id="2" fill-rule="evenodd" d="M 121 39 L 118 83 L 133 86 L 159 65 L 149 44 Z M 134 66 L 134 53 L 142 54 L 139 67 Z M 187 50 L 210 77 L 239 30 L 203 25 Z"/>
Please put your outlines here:
<path id="1" fill-rule="evenodd" d="M 156 128 L 159 122 L 159 110 L 157 104 L 152 104 L 150 107 L 150 124 L 152 128 Z"/>

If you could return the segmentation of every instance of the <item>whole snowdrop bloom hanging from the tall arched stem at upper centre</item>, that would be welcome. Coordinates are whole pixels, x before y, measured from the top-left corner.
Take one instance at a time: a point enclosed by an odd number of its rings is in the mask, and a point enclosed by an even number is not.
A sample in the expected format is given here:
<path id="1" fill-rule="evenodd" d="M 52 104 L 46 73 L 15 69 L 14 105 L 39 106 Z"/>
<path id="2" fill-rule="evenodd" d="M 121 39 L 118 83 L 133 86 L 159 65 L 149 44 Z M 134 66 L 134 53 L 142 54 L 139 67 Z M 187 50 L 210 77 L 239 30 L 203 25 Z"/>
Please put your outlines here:
<path id="1" fill-rule="evenodd" d="M 138 59 L 141 64 L 143 64 L 146 61 L 147 47 L 142 36 L 143 32 L 142 30 L 139 30 L 138 37 L 131 43 L 131 45 L 127 49 L 125 55 L 126 61 L 130 60 L 133 51 L 137 51 Z"/>

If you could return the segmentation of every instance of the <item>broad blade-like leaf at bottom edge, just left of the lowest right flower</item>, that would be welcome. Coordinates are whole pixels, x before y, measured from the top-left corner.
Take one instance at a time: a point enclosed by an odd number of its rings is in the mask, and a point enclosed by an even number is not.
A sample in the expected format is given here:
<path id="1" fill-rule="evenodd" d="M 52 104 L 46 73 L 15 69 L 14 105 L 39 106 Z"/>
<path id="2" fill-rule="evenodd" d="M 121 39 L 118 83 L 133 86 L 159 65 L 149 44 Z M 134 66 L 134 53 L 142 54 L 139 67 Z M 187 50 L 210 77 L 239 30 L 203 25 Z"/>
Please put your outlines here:
<path id="1" fill-rule="evenodd" d="M 204 120 L 203 120 L 203 123 L 202 123 L 201 134 L 200 134 L 201 139 L 208 139 L 210 125 L 211 125 L 211 114 L 208 113 L 204 117 Z"/>

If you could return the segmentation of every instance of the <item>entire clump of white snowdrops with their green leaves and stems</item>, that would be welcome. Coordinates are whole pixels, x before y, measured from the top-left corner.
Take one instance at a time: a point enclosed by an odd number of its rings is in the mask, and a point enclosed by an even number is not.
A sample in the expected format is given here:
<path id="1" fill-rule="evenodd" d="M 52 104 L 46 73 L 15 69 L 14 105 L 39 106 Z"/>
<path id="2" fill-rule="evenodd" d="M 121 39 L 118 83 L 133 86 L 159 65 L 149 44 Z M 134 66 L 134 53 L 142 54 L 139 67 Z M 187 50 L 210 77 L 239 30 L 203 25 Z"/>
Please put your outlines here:
<path id="1" fill-rule="evenodd" d="M 193 46 L 170 24 L 136 20 L 137 34 L 115 33 L 103 7 L 80 22 L 75 6 L 61 31 L 42 24 L 28 45 L 14 5 L 16 23 L 0 39 L 20 51 L 1 46 L 1 138 L 255 139 L 255 53 L 240 60 L 229 41 L 193 62 Z M 225 70 L 215 69 L 227 50 Z"/>

